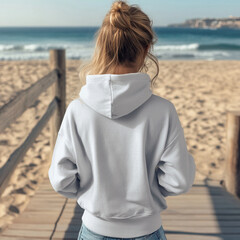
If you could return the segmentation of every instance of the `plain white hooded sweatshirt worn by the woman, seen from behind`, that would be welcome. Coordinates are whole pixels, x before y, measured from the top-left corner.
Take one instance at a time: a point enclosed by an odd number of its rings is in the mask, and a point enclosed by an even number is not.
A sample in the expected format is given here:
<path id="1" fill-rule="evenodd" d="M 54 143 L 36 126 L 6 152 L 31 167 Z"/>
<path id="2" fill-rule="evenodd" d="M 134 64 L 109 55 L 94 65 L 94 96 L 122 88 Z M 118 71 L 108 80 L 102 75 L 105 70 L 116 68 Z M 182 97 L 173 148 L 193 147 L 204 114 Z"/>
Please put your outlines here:
<path id="1" fill-rule="evenodd" d="M 53 189 L 85 209 L 97 234 L 134 238 L 162 225 L 165 197 L 195 178 L 174 105 L 145 73 L 88 75 L 68 105 L 48 172 Z"/>

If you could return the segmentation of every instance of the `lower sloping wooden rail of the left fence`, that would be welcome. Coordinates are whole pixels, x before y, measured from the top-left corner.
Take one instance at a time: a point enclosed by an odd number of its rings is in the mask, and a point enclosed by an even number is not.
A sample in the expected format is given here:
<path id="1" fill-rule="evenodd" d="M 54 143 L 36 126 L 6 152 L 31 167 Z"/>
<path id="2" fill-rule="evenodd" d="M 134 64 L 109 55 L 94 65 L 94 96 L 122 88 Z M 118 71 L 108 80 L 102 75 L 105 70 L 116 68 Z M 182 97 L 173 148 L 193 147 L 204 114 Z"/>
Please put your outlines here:
<path id="1" fill-rule="evenodd" d="M 54 111 L 57 108 L 57 102 L 54 98 L 52 102 L 49 104 L 47 110 L 44 115 L 38 121 L 38 123 L 34 126 L 28 137 L 25 141 L 18 147 L 9 157 L 8 161 L 5 165 L 0 169 L 0 196 L 5 190 L 11 175 L 13 174 L 17 164 L 23 159 L 27 150 L 32 146 L 35 139 L 41 133 L 42 129 L 45 127 L 46 123 L 53 115 Z"/>

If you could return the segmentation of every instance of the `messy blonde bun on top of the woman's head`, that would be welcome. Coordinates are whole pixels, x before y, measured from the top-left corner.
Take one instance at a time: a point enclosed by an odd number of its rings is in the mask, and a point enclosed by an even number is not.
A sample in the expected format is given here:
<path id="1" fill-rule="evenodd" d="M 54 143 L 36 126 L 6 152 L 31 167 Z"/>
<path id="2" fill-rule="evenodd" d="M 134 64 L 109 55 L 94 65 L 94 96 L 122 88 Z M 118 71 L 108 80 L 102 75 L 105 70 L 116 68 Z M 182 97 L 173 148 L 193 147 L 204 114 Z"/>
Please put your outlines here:
<path id="1" fill-rule="evenodd" d="M 114 2 L 110 10 L 111 25 L 121 30 L 131 28 L 129 8 L 130 7 L 124 1 Z"/>

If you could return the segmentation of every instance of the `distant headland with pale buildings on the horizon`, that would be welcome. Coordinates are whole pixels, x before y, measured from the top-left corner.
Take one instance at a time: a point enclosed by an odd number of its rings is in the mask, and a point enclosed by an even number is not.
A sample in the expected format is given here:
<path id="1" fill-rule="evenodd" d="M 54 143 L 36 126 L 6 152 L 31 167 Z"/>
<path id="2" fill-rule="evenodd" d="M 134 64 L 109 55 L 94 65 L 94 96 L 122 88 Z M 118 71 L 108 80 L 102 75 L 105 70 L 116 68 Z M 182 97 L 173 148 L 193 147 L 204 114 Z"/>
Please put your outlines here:
<path id="1" fill-rule="evenodd" d="M 193 18 L 186 20 L 184 23 L 170 24 L 168 27 L 240 29 L 240 17 L 229 16 L 228 18 Z"/>

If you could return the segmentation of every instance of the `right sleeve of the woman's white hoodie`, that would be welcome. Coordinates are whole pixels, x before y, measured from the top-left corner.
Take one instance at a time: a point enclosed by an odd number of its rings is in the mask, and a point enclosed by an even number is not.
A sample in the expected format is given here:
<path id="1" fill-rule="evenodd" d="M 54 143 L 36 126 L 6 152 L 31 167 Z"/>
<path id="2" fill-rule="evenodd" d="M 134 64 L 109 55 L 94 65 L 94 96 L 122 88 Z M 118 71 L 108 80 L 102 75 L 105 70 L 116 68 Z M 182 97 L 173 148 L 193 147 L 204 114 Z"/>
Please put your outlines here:
<path id="1" fill-rule="evenodd" d="M 187 150 L 184 131 L 172 104 L 169 143 L 157 166 L 159 189 L 164 197 L 179 195 L 190 190 L 195 179 L 196 165 Z"/>

